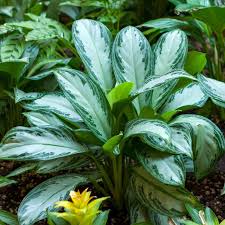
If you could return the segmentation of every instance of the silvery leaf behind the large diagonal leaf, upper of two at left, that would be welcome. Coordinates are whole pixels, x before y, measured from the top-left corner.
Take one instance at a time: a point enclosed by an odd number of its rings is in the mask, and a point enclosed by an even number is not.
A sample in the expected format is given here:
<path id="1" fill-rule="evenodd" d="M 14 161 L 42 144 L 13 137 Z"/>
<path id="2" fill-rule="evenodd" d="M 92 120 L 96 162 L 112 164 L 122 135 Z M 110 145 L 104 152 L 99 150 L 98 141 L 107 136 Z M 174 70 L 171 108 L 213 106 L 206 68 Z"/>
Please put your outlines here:
<path id="1" fill-rule="evenodd" d="M 23 101 L 30 100 L 31 98 L 28 93 L 24 96 Z M 41 96 L 38 95 L 37 99 L 34 99 L 33 101 L 25 101 L 22 105 L 27 110 L 54 113 L 75 126 L 79 126 L 82 122 L 81 117 L 74 110 L 72 104 L 65 98 L 63 93 L 41 93 Z"/>

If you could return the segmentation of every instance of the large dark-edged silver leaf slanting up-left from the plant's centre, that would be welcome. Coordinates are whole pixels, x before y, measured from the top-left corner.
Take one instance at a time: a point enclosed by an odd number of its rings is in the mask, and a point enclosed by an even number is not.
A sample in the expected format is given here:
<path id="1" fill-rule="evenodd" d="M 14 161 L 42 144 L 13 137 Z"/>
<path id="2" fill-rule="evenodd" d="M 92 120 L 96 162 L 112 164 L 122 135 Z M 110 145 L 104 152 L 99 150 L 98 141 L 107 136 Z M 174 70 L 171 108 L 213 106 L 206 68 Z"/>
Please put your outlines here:
<path id="1" fill-rule="evenodd" d="M 112 116 L 100 86 L 82 72 L 62 68 L 55 72 L 66 98 L 90 130 L 101 140 L 111 137 Z"/>

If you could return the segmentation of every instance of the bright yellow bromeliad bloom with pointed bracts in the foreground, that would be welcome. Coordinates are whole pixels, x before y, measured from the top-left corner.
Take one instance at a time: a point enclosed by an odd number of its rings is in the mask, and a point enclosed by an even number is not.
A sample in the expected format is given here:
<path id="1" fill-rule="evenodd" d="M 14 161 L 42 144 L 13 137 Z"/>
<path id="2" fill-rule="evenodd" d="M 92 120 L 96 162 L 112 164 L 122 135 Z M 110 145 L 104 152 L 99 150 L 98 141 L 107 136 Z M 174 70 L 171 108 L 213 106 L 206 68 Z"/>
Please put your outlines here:
<path id="1" fill-rule="evenodd" d="M 101 211 L 99 207 L 101 203 L 108 197 L 98 198 L 91 197 L 91 192 L 85 189 L 82 193 L 80 191 L 71 191 L 70 201 L 60 201 L 55 203 L 55 207 L 63 207 L 65 212 L 54 213 L 57 217 L 61 217 L 71 225 L 92 225 L 96 216 Z M 91 201 L 93 200 L 93 201 Z"/>

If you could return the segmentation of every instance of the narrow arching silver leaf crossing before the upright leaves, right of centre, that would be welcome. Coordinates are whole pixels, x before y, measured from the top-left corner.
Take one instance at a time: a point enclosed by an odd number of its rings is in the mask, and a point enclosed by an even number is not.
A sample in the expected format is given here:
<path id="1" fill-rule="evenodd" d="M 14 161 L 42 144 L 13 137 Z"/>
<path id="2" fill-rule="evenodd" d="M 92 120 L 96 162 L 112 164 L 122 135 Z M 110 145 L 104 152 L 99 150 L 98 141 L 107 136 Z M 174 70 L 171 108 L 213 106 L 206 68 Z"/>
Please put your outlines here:
<path id="1" fill-rule="evenodd" d="M 163 87 L 166 83 L 171 83 L 171 81 L 176 81 L 178 78 L 187 78 L 191 80 L 196 80 L 195 77 L 191 76 L 184 70 L 174 70 L 162 76 L 151 76 L 148 78 L 144 85 L 138 90 L 132 93 L 133 96 L 137 96 L 144 92 L 149 92 L 155 88 Z"/>

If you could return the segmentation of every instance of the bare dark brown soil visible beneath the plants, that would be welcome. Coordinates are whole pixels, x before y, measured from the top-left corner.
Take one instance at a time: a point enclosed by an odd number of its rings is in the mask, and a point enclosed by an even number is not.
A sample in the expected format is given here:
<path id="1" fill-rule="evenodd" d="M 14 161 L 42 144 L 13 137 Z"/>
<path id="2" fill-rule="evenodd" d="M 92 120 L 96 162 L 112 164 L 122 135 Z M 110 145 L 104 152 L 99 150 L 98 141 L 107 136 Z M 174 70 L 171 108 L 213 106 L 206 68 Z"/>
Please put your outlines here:
<path id="1" fill-rule="evenodd" d="M 13 162 L 1 162 L 0 163 L 0 175 L 6 175 L 17 166 Z M 37 175 L 34 173 L 28 173 L 18 177 L 17 184 L 2 188 L 0 190 L 0 209 L 10 211 L 12 213 L 17 212 L 20 202 L 25 195 L 36 185 L 43 182 L 47 178 L 53 175 Z M 225 159 L 222 159 L 220 166 L 215 173 L 207 178 L 196 181 L 194 176 L 188 174 L 186 186 L 191 192 L 193 192 L 200 202 L 205 206 L 208 206 L 214 210 L 220 220 L 225 219 L 225 195 L 221 195 L 221 190 L 225 183 Z M 94 192 L 93 192 L 94 193 Z M 105 206 L 108 207 L 108 206 Z M 129 225 L 127 213 L 124 211 L 117 212 L 111 208 L 108 225 Z M 45 221 L 36 223 L 37 225 L 46 225 Z"/>

